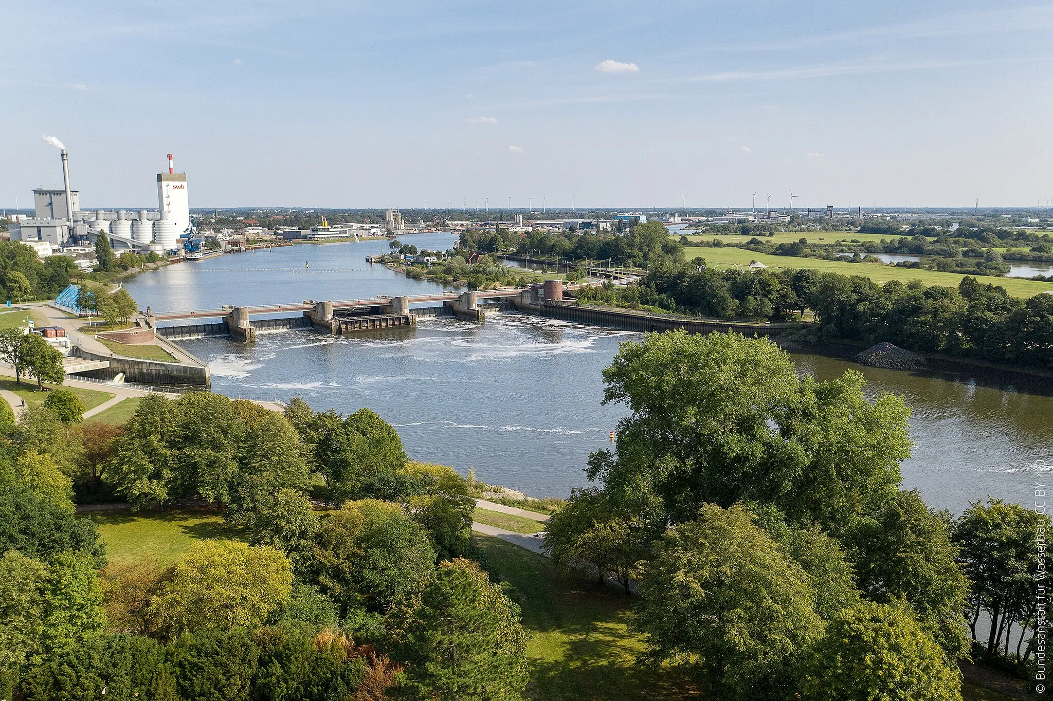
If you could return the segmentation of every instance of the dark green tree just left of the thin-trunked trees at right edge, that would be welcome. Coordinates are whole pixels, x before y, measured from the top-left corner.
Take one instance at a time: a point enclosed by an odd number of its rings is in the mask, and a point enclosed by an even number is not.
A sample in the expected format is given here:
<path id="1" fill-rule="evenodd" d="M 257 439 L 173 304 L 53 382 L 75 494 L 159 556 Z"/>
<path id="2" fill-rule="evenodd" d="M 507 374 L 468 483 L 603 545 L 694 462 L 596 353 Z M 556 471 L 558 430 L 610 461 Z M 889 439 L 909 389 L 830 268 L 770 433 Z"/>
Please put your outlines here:
<path id="1" fill-rule="evenodd" d="M 907 601 L 921 627 L 956 659 L 967 653 L 962 612 L 969 582 L 955 562 L 949 520 L 917 492 L 900 490 L 855 519 L 845 543 L 865 596 L 878 603 Z"/>

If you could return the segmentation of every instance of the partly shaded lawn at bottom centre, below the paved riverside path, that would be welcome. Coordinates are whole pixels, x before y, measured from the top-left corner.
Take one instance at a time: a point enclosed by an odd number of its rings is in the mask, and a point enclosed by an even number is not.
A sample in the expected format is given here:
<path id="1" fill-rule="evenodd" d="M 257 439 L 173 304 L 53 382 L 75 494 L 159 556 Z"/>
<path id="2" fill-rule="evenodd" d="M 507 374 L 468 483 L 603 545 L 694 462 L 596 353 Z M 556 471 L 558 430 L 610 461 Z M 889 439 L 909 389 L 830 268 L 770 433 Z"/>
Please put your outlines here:
<path id="1" fill-rule="evenodd" d="M 498 538 L 473 535 L 498 579 L 515 587 L 530 636 L 526 698 L 696 698 L 679 670 L 634 664 L 643 649 L 627 623 L 632 599 L 613 588 L 564 580 L 547 558 Z"/>

